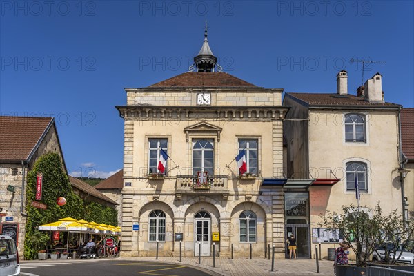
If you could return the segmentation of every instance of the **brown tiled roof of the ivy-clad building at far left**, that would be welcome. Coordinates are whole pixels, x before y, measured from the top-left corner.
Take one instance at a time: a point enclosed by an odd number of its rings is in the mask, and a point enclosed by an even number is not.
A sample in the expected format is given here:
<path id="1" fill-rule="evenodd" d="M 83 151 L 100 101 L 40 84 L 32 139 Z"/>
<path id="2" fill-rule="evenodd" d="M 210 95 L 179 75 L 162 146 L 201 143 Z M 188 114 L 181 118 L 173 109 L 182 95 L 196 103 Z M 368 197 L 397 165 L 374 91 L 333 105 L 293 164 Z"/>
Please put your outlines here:
<path id="1" fill-rule="evenodd" d="M 29 161 L 52 117 L 0 116 L 0 161 Z"/>

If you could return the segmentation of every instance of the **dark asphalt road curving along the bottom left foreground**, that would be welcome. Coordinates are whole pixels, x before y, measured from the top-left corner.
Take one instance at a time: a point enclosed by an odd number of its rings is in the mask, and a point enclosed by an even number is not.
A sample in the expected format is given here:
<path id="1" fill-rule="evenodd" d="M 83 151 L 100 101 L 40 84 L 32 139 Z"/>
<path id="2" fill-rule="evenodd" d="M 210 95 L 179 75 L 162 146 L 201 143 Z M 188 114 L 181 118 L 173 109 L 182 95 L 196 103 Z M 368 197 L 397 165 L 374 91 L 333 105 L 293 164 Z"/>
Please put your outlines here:
<path id="1" fill-rule="evenodd" d="M 122 261 L 119 259 L 45 260 L 21 262 L 21 276 L 210 276 L 212 274 L 183 266 L 160 262 Z"/>

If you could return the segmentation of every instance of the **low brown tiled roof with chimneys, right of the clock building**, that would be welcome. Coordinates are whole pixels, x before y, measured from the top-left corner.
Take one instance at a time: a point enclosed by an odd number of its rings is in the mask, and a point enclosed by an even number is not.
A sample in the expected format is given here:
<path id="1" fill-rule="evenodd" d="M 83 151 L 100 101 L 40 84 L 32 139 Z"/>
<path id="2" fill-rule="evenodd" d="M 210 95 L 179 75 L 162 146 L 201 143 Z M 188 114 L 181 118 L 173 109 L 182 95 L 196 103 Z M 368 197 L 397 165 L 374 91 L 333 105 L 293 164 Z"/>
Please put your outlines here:
<path id="1" fill-rule="evenodd" d="M 363 97 L 355 95 L 338 95 L 337 93 L 286 93 L 285 97 L 290 97 L 304 106 L 364 106 L 366 108 L 400 108 L 395 103 L 370 103 Z"/>

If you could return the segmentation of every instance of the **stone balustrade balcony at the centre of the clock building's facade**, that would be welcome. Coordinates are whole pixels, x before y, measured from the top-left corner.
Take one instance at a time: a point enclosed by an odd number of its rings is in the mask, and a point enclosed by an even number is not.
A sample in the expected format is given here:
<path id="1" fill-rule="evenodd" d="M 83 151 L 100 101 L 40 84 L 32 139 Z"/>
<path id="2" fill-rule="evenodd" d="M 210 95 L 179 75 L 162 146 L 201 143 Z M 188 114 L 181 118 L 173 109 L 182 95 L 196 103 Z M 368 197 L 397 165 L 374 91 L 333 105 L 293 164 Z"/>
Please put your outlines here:
<path id="1" fill-rule="evenodd" d="M 175 193 L 177 194 L 228 194 L 227 175 L 207 176 L 205 185 L 197 184 L 197 176 L 177 175 Z"/>

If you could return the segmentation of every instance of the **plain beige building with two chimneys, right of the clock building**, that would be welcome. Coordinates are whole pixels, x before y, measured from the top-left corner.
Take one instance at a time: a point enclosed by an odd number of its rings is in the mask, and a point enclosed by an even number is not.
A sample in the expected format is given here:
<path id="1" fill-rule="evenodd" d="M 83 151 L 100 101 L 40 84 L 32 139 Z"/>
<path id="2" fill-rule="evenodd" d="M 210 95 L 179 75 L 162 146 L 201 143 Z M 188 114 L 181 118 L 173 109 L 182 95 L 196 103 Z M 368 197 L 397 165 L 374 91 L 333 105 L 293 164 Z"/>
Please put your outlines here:
<path id="1" fill-rule="evenodd" d="M 313 179 L 295 190 L 293 197 L 306 202 L 306 216 L 298 217 L 298 247 L 314 255 L 322 243 L 322 256 L 337 246 L 339 233 L 318 226 L 326 210 L 360 206 L 370 213 L 380 201 L 384 213 L 402 211 L 400 181 L 400 126 L 402 106 L 384 101 L 382 75 L 375 74 L 357 95 L 348 93 L 348 73 L 337 75 L 336 93 L 286 93 L 290 107 L 284 121 L 287 172 L 293 179 Z M 412 180 L 411 180 L 412 182 Z M 412 185 L 411 185 L 412 186 Z M 411 190 L 411 193 L 412 190 Z M 285 194 L 285 200 L 286 200 Z M 298 248 L 298 250 L 299 250 Z M 303 252 L 304 253 L 304 252 Z"/>

